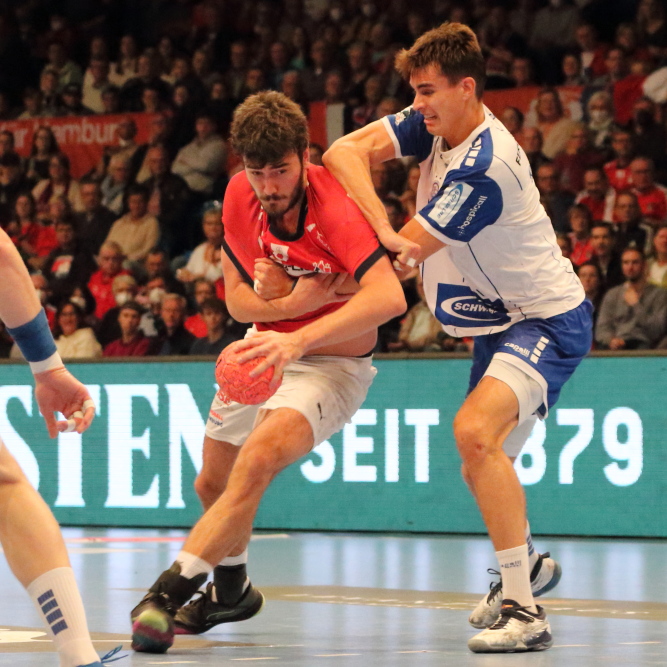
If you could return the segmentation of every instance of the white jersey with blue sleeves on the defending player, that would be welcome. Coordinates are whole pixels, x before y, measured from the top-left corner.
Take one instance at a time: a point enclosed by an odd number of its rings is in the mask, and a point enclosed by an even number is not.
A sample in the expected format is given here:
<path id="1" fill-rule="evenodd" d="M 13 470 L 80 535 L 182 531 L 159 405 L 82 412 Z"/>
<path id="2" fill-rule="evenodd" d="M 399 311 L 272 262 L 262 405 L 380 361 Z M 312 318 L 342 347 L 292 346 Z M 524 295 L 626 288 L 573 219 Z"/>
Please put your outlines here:
<path id="1" fill-rule="evenodd" d="M 452 336 L 493 334 L 573 310 L 585 298 L 556 242 L 528 158 L 485 107 L 484 122 L 448 149 L 408 107 L 383 123 L 396 157 L 421 177 L 416 219 L 446 244 L 422 266 L 431 311 Z"/>

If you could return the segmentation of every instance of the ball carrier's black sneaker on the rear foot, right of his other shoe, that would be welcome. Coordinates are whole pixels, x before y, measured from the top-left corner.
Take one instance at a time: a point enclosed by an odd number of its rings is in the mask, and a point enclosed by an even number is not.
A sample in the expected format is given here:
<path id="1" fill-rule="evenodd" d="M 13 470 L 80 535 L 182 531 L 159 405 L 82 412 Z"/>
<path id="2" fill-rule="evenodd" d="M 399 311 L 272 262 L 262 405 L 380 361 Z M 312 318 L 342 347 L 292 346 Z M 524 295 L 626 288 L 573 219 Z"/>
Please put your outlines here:
<path id="1" fill-rule="evenodd" d="M 264 606 L 264 596 L 252 584 L 233 605 L 214 602 L 212 594 L 213 584 L 209 582 L 206 591 L 199 591 L 198 598 L 178 610 L 174 619 L 177 635 L 200 635 L 221 623 L 245 621 Z"/>

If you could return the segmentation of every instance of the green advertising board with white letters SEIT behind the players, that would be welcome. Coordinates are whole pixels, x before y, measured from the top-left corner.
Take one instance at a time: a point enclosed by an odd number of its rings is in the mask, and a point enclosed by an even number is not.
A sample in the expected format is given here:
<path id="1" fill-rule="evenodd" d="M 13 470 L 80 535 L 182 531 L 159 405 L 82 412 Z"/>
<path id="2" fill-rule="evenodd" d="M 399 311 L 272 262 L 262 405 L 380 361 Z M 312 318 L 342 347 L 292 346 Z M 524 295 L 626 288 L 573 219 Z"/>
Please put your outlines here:
<path id="1" fill-rule="evenodd" d="M 284 471 L 256 527 L 484 532 L 452 420 L 467 359 L 375 362 L 364 406 Z M 0 435 L 61 523 L 190 526 L 213 364 L 78 363 L 95 400 L 82 436 L 49 440 L 30 372 L 0 367 Z M 586 359 L 516 469 L 535 533 L 667 537 L 667 357 Z"/>

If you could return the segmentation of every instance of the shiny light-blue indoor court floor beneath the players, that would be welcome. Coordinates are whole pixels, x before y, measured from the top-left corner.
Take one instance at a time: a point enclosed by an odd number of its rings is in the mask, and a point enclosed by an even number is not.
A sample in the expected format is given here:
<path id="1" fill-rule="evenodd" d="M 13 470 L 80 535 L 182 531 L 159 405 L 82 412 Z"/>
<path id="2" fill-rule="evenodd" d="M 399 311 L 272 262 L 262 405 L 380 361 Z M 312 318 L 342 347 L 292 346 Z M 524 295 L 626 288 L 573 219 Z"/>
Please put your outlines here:
<path id="1" fill-rule="evenodd" d="M 64 530 L 95 646 L 129 649 L 130 609 L 179 550 L 183 531 Z M 563 566 L 548 597 L 554 647 L 474 655 L 470 609 L 494 567 L 484 537 L 264 533 L 249 574 L 261 614 L 202 637 L 177 637 L 167 654 L 124 650 L 138 665 L 511 667 L 667 666 L 667 541 L 535 540 Z M 58 665 L 27 595 L 0 561 L 0 665 Z"/>

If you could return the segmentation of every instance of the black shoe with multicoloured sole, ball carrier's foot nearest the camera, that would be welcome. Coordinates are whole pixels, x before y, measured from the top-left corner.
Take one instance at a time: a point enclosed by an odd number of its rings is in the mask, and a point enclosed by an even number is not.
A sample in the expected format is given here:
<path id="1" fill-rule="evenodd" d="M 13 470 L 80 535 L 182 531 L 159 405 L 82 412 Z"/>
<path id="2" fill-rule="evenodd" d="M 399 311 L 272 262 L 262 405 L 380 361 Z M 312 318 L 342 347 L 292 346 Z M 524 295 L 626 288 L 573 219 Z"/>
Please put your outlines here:
<path id="1" fill-rule="evenodd" d="M 176 612 L 206 578 L 205 574 L 192 579 L 182 577 L 178 563 L 163 572 L 141 602 L 130 612 L 132 648 L 145 653 L 166 653 L 174 643 Z"/>

